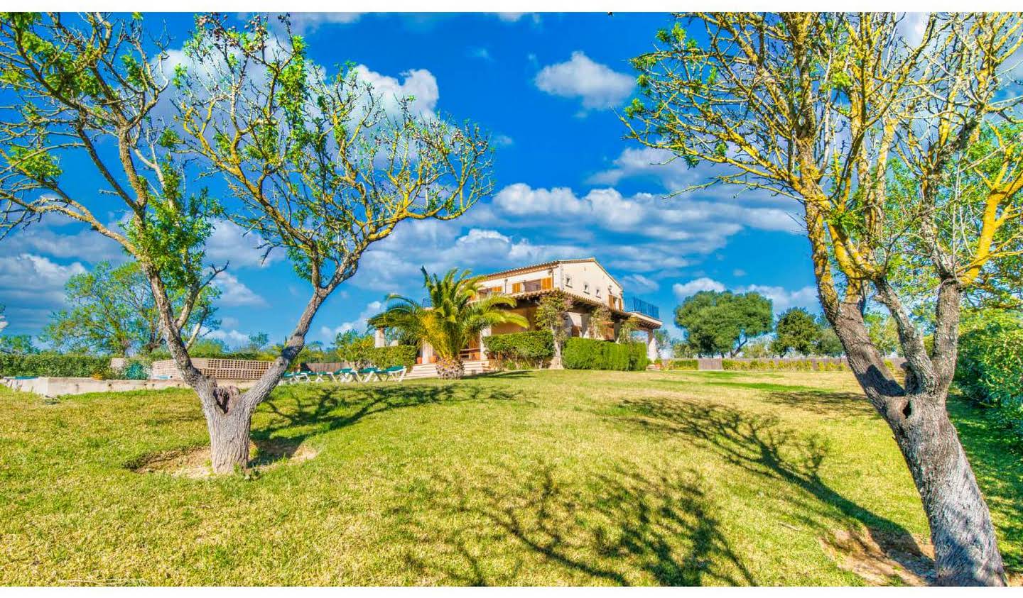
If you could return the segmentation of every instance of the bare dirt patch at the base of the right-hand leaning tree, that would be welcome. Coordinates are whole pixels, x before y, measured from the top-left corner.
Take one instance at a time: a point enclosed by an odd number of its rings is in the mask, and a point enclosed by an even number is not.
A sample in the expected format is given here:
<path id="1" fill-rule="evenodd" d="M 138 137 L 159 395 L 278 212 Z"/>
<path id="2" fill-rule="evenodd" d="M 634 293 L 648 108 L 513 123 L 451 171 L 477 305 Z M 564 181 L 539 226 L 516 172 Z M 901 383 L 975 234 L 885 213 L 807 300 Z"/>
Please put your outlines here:
<path id="1" fill-rule="evenodd" d="M 820 542 L 840 567 L 872 586 L 934 583 L 934 547 L 909 534 L 839 530 Z"/>

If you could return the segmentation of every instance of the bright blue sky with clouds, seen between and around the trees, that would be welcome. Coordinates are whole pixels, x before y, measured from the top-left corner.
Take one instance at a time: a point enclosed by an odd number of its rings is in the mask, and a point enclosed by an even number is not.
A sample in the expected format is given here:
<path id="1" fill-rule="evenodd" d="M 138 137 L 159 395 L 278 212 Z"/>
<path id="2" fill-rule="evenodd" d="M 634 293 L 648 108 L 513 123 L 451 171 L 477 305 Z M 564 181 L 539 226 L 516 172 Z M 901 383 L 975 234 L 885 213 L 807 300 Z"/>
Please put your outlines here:
<path id="1" fill-rule="evenodd" d="M 191 16 L 150 13 L 145 21 L 166 21 L 180 47 Z M 496 146 L 494 194 L 456 221 L 402 223 L 320 310 L 309 339 L 361 329 L 388 292 L 421 295 L 424 265 L 486 273 L 595 257 L 626 295 L 660 306 L 669 321 L 679 298 L 703 288 L 760 290 L 775 312 L 818 309 L 795 202 L 730 187 L 668 198 L 708 171 L 656 164 L 669 156 L 623 139 L 615 110 L 635 91 L 628 59 L 651 48 L 668 15 L 306 13 L 294 21 L 317 62 L 360 64 L 377 91 L 475 121 Z M 62 166 L 69 188 L 94 196 L 100 212 L 109 202 L 116 219 L 116 205 L 96 194 L 96 176 Z M 212 333 L 229 344 L 261 331 L 282 338 L 309 294 L 283 256 L 261 264 L 253 245 L 228 224 L 209 243 L 211 259 L 230 259 L 219 282 L 223 324 Z M 5 332 L 38 333 L 62 307 L 69 276 L 124 259 L 113 242 L 57 220 L 0 241 Z"/>

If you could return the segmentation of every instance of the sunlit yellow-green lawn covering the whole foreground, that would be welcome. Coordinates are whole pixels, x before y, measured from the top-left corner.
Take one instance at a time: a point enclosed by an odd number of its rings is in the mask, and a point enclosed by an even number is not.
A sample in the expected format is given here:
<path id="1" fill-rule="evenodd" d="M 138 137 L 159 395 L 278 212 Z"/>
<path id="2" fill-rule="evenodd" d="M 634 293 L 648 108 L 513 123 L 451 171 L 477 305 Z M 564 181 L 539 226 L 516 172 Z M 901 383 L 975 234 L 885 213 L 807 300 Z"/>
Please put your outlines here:
<path id="1" fill-rule="evenodd" d="M 2 390 L 0 410 L 8 585 L 861 585 L 837 531 L 928 535 L 840 372 L 287 386 L 254 421 L 273 466 L 206 479 L 134 471 L 207 442 L 189 393 Z M 1019 571 L 1020 455 L 952 413 Z"/>

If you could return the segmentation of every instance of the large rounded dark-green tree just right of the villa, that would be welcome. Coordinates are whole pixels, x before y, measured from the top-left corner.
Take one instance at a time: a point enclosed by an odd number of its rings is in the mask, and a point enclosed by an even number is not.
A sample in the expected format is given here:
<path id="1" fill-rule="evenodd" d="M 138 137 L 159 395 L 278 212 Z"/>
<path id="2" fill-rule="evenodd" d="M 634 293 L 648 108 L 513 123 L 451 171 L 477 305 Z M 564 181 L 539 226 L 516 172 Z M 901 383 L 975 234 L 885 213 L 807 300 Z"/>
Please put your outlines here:
<path id="1" fill-rule="evenodd" d="M 675 308 L 675 324 L 700 355 L 736 356 L 751 339 L 771 331 L 771 302 L 751 291 L 702 290 Z"/>

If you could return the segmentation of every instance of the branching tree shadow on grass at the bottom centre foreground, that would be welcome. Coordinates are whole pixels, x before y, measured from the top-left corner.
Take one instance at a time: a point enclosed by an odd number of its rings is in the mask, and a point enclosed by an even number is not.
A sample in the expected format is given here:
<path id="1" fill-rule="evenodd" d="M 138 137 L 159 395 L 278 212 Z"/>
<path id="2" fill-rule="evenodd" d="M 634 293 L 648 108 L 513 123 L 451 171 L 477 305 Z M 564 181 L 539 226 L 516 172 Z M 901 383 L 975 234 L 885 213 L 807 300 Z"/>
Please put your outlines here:
<path id="1" fill-rule="evenodd" d="M 408 554 L 413 570 L 440 574 L 442 583 L 513 585 L 539 561 L 575 573 L 560 578 L 573 584 L 756 584 L 692 471 L 644 475 L 619 467 L 580 486 L 537 463 L 502 468 L 491 478 L 501 481 L 469 487 L 456 477 L 434 478 L 446 491 L 432 494 L 429 510 L 465 524 L 440 538 L 447 558 Z M 438 541 L 433 520 L 405 514 L 413 535 Z"/>

